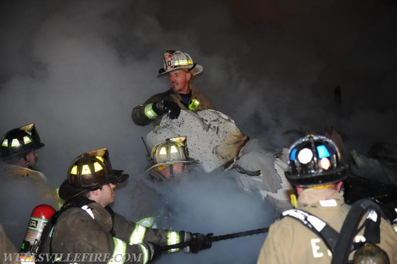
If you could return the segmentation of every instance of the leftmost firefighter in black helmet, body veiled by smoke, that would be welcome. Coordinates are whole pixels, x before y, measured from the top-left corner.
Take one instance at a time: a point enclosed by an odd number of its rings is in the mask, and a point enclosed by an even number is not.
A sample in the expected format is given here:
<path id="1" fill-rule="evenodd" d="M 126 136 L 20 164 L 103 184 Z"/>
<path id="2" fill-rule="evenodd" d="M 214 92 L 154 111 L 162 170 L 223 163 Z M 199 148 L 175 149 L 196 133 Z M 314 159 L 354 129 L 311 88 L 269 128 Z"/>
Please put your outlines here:
<path id="1" fill-rule="evenodd" d="M 56 188 L 47 184 L 47 177 L 37 169 L 37 151 L 43 146 L 33 123 L 10 130 L 0 139 L 1 176 L 6 176 L 0 185 L 5 210 L 0 222 L 17 247 L 23 240 L 32 207 L 47 203 L 59 208 L 62 204 Z"/>

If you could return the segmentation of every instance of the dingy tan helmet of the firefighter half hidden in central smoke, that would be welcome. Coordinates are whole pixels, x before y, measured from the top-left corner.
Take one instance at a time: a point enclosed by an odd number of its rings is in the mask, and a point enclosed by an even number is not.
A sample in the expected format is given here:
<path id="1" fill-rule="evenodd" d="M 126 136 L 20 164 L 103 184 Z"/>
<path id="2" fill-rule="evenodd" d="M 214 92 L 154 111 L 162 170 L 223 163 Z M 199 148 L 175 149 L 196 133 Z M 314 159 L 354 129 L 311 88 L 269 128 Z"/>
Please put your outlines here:
<path id="1" fill-rule="evenodd" d="M 152 149 L 151 158 L 152 162 L 146 166 L 145 171 L 158 166 L 199 162 L 189 157 L 186 136 L 167 138 L 156 144 Z"/>

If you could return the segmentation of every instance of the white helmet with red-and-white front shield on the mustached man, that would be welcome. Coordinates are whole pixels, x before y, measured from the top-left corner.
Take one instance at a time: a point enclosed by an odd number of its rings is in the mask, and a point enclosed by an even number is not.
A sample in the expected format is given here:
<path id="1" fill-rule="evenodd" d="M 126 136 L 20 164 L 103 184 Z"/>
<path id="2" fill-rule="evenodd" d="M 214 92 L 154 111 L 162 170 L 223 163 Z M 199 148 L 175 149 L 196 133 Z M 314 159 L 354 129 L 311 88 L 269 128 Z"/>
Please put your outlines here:
<path id="1" fill-rule="evenodd" d="M 203 67 L 193 63 L 192 57 L 187 53 L 168 50 L 164 53 L 164 68 L 158 70 L 158 76 L 176 69 L 188 69 L 195 76 L 202 72 Z"/>

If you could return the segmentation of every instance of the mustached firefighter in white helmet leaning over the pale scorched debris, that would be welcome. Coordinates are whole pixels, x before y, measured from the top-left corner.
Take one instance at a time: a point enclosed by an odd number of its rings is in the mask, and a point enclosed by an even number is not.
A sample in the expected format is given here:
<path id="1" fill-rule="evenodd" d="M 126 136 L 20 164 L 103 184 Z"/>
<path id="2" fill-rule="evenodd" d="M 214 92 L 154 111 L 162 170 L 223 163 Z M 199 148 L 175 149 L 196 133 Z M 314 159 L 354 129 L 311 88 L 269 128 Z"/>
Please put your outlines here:
<path id="1" fill-rule="evenodd" d="M 211 100 L 205 97 L 191 84 L 203 67 L 193 63 L 189 54 L 181 51 L 166 51 L 164 53 L 164 68 L 159 69 L 159 75 L 168 74 L 171 89 L 151 96 L 144 104 L 132 109 L 132 121 L 135 125 L 146 126 L 152 121 L 160 124 L 161 117 L 170 112 L 169 117 L 179 117 L 181 109 L 203 110 L 213 109 Z"/>

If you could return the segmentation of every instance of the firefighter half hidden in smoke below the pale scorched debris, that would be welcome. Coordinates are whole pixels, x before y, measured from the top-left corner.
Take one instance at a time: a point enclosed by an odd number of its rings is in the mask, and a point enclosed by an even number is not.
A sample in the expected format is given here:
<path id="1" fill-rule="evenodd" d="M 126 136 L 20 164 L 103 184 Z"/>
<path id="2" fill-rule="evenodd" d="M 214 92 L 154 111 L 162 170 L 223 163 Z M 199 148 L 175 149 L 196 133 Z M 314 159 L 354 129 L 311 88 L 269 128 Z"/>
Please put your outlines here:
<path id="1" fill-rule="evenodd" d="M 157 143 L 151 151 L 152 161 L 145 168 L 147 179 L 135 181 L 132 189 L 132 215 L 146 227 L 171 228 L 171 209 L 159 189 L 179 179 L 189 171 L 190 164 L 199 161 L 189 157 L 186 136 L 167 138 Z M 159 186 L 159 184 L 161 186 Z"/>

